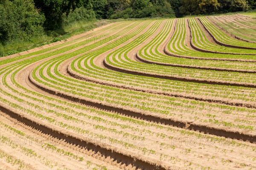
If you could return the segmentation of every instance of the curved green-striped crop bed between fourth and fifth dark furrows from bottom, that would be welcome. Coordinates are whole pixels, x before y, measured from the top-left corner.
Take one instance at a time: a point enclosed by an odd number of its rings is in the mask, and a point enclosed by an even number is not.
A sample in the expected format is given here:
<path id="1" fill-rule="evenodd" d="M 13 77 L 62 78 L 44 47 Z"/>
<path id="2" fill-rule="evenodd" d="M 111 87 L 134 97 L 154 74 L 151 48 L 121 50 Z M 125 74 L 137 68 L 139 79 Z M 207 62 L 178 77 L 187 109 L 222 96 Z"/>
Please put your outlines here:
<path id="1" fill-rule="evenodd" d="M 142 37 L 148 36 L 147 34 L 143 34 Z M 144 41 L 143 38 L 140 40 Z M 128 58 L 127 54 L 130 49 L 134 48 L 137 43 L 129 43 L 125 46 L 125 48 L 119 48 L 116 51 L 113 51 L 109 54 L 104 63 L 105 66 L 112 67 L 112 69 L 118 69 L 118 71 L 125 73 L 132 73 L 142 76 L 148 77 L 156 77 L 160 79 L 172 79 L 172 80 L 182 80 L 185 82 L 199 82 L 206 84 L 219 84 L 219 85 L 235 85 L 235 86 L 244 86 L 244 87 L 252 87 L 256 74 L 244 74 L 237 72 L 228 72 L 225 74 L 224 72 L 211 71 L 211 70 L 200 70 L 200 74 L 198 74 L 197 69 L 188 69 L 188 68 L 178 68 L 178 67 L 168 67 L 161 65 L 147 65 L 145 63 L 138 63 L 136 61 L 132 61 Z M 122 56 L 123 55 L 123 56 Z M 178 75 L 178 76 L 173 76 Z M 214 75 L 214 76 L 212 76 Z M 249 81 L 244 79 L 248 78 Z"/>

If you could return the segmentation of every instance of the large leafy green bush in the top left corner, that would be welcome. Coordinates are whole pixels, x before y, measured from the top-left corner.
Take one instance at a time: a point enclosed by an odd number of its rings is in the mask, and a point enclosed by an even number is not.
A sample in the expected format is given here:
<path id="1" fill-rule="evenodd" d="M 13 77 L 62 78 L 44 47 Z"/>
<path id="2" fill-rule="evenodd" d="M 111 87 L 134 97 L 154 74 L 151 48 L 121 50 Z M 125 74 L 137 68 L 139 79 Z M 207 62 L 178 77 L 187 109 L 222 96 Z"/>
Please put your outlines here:
<path id="1" fill-rule="evenodd" d="M 30 40 L 44 34 L 44 15 L 38 14 L 33 0 L 2 0 L 0 3 L 0 40 Z"/>

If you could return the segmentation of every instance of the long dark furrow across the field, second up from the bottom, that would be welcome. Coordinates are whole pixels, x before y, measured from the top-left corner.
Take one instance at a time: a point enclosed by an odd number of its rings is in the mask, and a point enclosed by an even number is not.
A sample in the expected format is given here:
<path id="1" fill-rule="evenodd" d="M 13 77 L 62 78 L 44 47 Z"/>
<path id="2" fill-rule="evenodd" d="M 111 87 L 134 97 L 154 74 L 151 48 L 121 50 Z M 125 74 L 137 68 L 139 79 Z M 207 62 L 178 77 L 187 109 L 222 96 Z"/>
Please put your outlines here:
<path id="1" fill-rule="evenodd" d="M 164 117 L 157 117 L 156 115 L 135 112 L 135 111 L 131 111 L 131 110 L 126 110 L 124 108 L 116 108 L 116 107 L 112 107 L 111 105 L 108 105 L 108 104 L 93 102 L 90 99 L 81 99 L 81 98 L 78 98 L 75 96 L 71 96 L 69 94 L 64 94 L 59 91 L 55 91 L 51 88 L 43 87 L 43 86 L 39 85 L 38 83 L 36 83 L 35 81 L 33 81 L 31 79 L 31 77 L 29 77 L 29 81 L 33 85 L 35 85 L 37 88 L 40 88 L 41 90 L 43 90 L 49 94 L 59 96 L 61 98 L 67 99 L 72 102 L 78 102 L 78 103 L 81 103 L 83 105 L 87 105 L 90 107 L 95 107 L 98 109 L 111 111 L 114 113 L 118 113 L 121 115 L 136 118 L 136 119 L 143 119 L 148 122 L 155 122 L 155 123 L 161 123 L 164 125 L 181 127 L 181 128 L 188 129 L 188 130 L 200 131 L 200 132 L 204 132 L 204 133 L 212 134 L 212 135 L 216 135 L 216 136 L 224 136 L 226 138 L 231 138 L 231 139 L 238 139 L 238 140 L 241 139 L 244 141 L 250 141 L 252 143 L 256 142 L 256 138 L 255 138 L 256 136 L 253 136 L 253 135 L 243 134 L 243 133 L 239 133 L 236 131 L 230 131 L 230 130 L 221 129 L 221 128 L 216 129 L 214 127 L 201 125 L 200 123 L 198 124 L 198 123 L 187 122 L 187 121 L 182 121 L 182 120 L 165 119 Z"/>

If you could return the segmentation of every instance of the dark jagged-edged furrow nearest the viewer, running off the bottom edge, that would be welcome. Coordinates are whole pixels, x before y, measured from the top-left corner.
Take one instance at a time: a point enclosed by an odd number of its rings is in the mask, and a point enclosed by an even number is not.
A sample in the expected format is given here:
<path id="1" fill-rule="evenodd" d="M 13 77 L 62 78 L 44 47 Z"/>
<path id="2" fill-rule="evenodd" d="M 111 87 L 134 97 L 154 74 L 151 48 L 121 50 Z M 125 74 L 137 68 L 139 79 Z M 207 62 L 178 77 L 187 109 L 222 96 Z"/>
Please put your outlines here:
<path id="1" fill-rule="evenodd" d="M 3 113 L 6 113 L 13 119 L 18 120 L 19 122 L 22 122 L 23 124 L 38 130 L 39 133 L 44 133 L 47 135 L 50 135 L 52 138 L 57 138 L 58 140 L 65 141 L 62 144 L 72 144 L 76 147 L 84 148 L 85 150 L 89 151 L 91 150 L 90 156 L 94 155 L 96 159 L 107 159 L 108 157 L 111 157 L 113 161 L 116 161 L 117 164 L 115 166 L 119 166 L 123 168 L 123 164 L 125 166 L 133 165 L 136 167 L 136 169 L 155 169 L 155 170 L 169 170 L 173 167 L 166 167 L 165 165 L 160 164 L 158 161 L 152 161 L 152 160 L 145 160 L 140 158 L 141 156 L 136 156 L 131 153 L 122 153 L 121 150 L 116 150 L 111 147 L 103 147 L 100 144 L 95 144 L 91 141 L 86 141 L 84 139 L 79 139 L 77 136 L 73 136 L 69 133 L 64 133 L 64 130 L 59 131 L 54 129 L 53 127 L 49 127 L 48 125 L 44 125 L 40 122 L 35 122 L 32 119 L 29 119 L 27 116 L 23 115 L 21 116 L 19 113 L 15 113 L 9 109 L 3 108 L 3 106 L 0 106 L 0 111 Z M 109 160 L 109 159 L 108 159 Z"/>

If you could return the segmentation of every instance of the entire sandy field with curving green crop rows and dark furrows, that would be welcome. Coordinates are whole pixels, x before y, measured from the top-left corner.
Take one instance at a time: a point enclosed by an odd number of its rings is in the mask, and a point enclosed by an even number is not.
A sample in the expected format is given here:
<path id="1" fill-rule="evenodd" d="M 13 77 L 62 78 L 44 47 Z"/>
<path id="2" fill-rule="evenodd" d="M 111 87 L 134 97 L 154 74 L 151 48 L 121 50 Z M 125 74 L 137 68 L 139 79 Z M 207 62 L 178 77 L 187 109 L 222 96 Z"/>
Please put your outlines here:
<path id="1" fill-rule="evenodd" d="M 0 58 L 0 169 L 256 169 L 256 20 L 111 23 Z"/>

